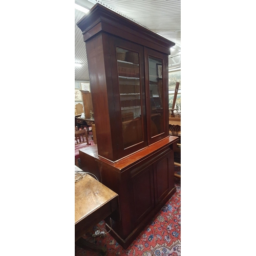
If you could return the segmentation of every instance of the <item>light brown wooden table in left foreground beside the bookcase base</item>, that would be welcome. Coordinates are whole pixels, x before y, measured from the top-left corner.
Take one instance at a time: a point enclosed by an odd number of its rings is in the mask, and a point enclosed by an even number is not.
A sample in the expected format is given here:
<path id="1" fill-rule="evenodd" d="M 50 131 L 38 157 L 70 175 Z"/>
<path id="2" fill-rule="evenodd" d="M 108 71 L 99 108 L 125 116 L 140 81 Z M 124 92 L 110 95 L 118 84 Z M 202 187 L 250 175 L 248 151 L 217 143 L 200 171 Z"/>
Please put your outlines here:
<path id="1" fill-rule="evenodd" d="M 75 172 L 81 171 L 75 165 Z M 118 211 L 118 195 L 91 175 L 75 183 L 75 241 L 100 221 Z M 80 246 L 80 245 L 79 245 Z"/>

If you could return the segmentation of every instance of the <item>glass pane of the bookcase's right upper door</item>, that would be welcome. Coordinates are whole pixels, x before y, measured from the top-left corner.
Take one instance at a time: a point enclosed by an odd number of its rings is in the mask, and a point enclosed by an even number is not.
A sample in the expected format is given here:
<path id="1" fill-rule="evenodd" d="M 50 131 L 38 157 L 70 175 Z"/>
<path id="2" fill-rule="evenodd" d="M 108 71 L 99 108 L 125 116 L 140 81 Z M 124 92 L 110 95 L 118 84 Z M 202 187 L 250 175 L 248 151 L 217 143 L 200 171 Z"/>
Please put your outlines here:
<path id="1" fill-rule="evenodd" d="M 148 58 L 150 75 L 151 137 L 164 132 L 162 59 Z"/>

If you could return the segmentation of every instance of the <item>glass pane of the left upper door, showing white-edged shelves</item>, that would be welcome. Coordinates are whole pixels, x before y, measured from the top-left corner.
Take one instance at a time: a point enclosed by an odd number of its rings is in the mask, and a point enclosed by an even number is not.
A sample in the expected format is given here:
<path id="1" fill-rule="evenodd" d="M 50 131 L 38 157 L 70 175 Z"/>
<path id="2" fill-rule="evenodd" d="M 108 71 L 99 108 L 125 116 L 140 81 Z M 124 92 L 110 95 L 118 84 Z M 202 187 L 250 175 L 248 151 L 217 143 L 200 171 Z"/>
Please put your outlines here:
<path id="1" fill-rule="evenodd" d="M 139 54 L 117 47 L 124 148 L 142 142 Z"/>

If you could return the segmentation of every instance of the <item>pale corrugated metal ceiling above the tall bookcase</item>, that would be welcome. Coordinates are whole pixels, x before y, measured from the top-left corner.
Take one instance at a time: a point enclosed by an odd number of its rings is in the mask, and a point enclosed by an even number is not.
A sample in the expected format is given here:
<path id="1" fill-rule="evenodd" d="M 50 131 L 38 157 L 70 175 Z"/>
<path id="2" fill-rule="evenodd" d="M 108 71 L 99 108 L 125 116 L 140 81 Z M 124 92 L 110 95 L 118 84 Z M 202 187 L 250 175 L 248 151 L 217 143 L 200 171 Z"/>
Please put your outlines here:
<path id="1" fill-rule="evenodd" d="M 150 29 L 165 38 L 174 41 L 174 51 L 169 56 L 169 66 L 180 66 L 181 51 L 181 5 L 180 0 L 79 0 L 89 9 L 100 3 L 113 11 L 132 19 L 141 26 Z M 76 81 L 89 81 L 86 46 L 82 32 L 76 23 L 84 13 L 75 9 L 75 62 L 82 67 L 75 67 Z M 176 57 L 172 57 L 176 56 Z"/>

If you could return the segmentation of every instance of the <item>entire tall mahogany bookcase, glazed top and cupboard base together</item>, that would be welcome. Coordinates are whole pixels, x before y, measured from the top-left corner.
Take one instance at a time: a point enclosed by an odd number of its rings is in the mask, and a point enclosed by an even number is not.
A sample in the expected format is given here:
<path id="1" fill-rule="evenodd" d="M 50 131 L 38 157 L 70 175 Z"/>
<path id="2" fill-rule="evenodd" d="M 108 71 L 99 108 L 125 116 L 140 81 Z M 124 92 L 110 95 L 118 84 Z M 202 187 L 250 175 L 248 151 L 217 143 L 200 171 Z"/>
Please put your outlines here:
<path id="1" fill-rule="evenodd" d="M 100 4 L 77 26 L 86 42 L 97 135 L 93 151 L 79 151 L 81 164 L 90 162 L 87 168 L 119 195 L 121 217 L 111 232 L 127 248 L 176 190 L 178 138 L 168 134 L 167 72 L 175 44 Z"/>

